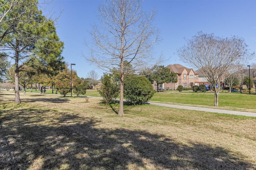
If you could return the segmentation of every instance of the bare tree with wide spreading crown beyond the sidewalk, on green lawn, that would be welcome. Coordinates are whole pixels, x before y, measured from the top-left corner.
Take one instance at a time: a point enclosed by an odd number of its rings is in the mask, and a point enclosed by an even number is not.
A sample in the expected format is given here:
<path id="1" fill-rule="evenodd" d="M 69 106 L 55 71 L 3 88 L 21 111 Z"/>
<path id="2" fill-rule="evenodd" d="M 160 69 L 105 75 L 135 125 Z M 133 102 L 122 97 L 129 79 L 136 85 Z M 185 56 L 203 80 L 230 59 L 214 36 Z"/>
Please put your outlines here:
<path id="1" fill-rule="evenodd" d="M 213 33 L 198 32 L 193 39 L 186 39 L 187 45 L 178 49 L 178 56 L 202 71 L 214 87 L 214 106 L 218 106 L 218 96 L 222 76 L 236 64 L 246 63 L 255 53 L 249 53 L 244 39 L 233 36 L 217 37 Z M 231 73 L 231 72 L 230 72 Z"/>

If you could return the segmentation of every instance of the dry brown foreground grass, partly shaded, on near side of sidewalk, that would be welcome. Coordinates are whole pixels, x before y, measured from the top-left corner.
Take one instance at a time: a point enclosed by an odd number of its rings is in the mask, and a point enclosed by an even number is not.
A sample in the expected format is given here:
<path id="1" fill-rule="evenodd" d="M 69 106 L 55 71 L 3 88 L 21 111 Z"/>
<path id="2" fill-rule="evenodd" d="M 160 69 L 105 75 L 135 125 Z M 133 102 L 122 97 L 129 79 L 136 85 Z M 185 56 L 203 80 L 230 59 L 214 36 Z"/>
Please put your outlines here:
<path id="1" fill-rule="evenodd" d="M 0 169 L 256 169 L 256 119 L 54 95 L 0 96 Z"/>

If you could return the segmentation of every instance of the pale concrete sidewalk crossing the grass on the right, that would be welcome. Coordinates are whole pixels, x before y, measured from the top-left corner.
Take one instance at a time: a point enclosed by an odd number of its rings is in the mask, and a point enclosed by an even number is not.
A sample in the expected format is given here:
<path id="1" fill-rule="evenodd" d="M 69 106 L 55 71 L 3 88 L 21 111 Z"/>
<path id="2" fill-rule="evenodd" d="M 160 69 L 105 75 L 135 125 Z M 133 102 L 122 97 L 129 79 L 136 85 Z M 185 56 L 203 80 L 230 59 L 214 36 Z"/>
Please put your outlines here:
<path id="1" fill-rule="evenodd" d="M 157 106 L 165 106 L 165 107 L 173 107 L 173 108 L 178 108 L 178 109 L 209 111 L 209 112 L 213 112 L 213 113 L 226 113 L 226 114 L 232 114 L 232 115 L 243 115 L 243 116 L 256 117 L 256 113 L 254 113 L 254 112 L 246 112 L 246 111 L 212 109 L 212 108 L 194 107 L 194 106 L 181 106 L 181 105 L 174 105 L 174 104 L 154 103 L 154 102 L 148 102 L 148 104 L 157 105 Z"/>

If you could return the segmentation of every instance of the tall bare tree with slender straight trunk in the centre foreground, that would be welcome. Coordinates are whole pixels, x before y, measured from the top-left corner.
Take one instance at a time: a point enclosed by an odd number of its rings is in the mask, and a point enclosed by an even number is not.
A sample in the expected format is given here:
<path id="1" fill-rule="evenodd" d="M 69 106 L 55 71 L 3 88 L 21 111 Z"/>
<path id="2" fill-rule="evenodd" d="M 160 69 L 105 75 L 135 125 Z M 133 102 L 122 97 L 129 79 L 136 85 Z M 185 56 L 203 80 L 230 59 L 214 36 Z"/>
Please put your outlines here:
<path id="1" fill-rule="evenodd" d="M 120 77 L 118 116 L 124 116 L 125 77 L 152 68 L 160 59 L 152 51 L 159 39 L 159 32 L 152 25 L 155 12 L 142 12 L 141 4 L 141 0 L 104 1 L 99 8 L 102 27 L 95 26 L 91 33 L 94 43 L 86 43 L 91 51 L 85 56 L 87 61 Z M 125 69 L 127 65 L 132 69 Z"/>

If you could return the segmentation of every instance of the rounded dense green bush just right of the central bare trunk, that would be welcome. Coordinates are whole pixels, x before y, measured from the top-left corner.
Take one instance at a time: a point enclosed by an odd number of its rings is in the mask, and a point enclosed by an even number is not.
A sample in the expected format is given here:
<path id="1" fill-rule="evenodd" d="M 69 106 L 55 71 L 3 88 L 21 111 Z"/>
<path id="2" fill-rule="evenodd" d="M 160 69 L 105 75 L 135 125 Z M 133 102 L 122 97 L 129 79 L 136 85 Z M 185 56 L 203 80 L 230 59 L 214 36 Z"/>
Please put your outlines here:
<path id="1" fill-rule="evenodd" d="M 146 77 L 134 77 L 124 82 L 124 98 L 132 105 L 142 105 L 153 95 L 153 86 Z"/>

